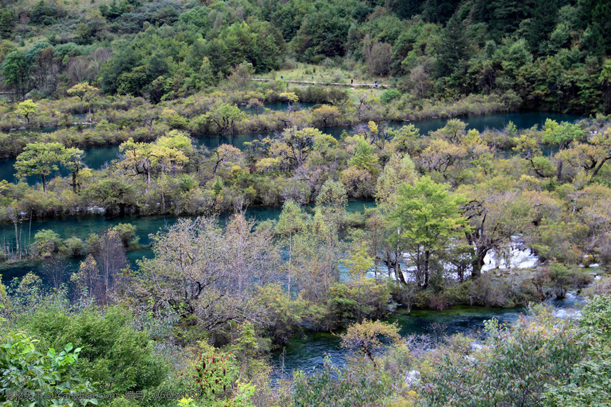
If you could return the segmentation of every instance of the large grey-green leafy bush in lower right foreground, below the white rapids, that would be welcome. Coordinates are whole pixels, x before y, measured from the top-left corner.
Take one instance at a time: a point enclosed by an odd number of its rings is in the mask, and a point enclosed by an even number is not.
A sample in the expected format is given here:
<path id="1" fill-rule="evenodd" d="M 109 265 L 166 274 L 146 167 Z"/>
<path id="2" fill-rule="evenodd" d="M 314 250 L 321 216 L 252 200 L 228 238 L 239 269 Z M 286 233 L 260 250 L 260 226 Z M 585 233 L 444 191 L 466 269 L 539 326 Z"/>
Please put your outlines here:
<path id="1" fill-rule="evenodd" d="M 445 351 L 419 384 L 422 405 L 535 406 L 546 384 L 566 380 L 584 354 L 571 322 L 549 315 L 521 318 L 511 328 L 486 322 L 486 347 L 466 356 Z"/>

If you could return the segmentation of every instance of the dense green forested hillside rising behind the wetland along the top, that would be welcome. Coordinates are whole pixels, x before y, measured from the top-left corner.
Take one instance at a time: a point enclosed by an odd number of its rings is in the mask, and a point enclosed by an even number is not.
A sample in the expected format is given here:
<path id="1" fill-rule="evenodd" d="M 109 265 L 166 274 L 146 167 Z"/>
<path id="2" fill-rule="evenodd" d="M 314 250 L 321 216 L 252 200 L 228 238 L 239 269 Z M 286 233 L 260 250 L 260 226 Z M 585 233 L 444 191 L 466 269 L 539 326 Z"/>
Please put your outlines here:
<path id="1" fill-rule="evenodd" d="M 25 0 L 0 16 L 2 77 L 19 98 L 62 98 L 89 81 L 158 103 L 209 90 L 243 62 L 255 74 L 307 62 L 395 84 L 406 103 L 469 93 L 586 113 L 611 103 L 604 0 Z"/>

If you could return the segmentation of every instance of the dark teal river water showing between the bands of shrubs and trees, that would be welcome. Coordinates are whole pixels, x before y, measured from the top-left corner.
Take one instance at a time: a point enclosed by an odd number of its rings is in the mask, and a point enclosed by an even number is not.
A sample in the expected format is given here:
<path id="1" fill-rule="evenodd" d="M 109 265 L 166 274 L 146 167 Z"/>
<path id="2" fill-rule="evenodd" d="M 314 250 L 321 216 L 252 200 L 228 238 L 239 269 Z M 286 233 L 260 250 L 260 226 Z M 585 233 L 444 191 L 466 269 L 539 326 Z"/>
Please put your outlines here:
<path id="1" fill-rule="evenodd" d="M 276 109 L 280 107 L 274 106 Z M 510 121 L 517 128 L 530 128 L 535 124 L 542 125 L 547 118 L 557 121 L 576 121 L 579 116 L 564 115 L 559 113 L 502 113 L 485 116 L 467 116 L 458 117 L 467 123 L 467 128 L 484 131 L 485 129 L 502 129 Z M 430 131 L 445 126 L 449 119 L 431 119 L 414 121 L 412 124 L 416 126 L 421 134 L 427 134 Z M 410 122 L 389 122 L 387 126 L 390 128 L 398 128 Z M 323 129 L 327 134 L 334 137 L 339 137 L 343 131 L 351 131 L 353 128 L 326 128 Z M 207 146 L 208 148 L 216 148 L 222 143 L 234 145 L 242 148 L 244 142 L 251 142 L 258 137 L 265 137 L 269 133 L 246 133 L 233 136 L 199 136 L 194 137 L 196 143 Z M 86 148 L 86 156 L 84 161 L 90 168 L 102 168 L 106 163 L 111 162 L 119 156 L 118 146 L 104 146 Z M 13 168 L 15 159 L 0 160 L 0 179 L 7 181 L 15 181 L 15 170 Z M 30 182 L 36 182 L 37 179 L 29 179 Z M 371 201 L 353 201 L 349 203 L 348 211 L 362 211 L 364 206 L 373 206 Z M 258 220 L 274 219 L 280 214 L 280 207 L 251 207 L 247 211 L 247 215 Z M 227 214 L 221 216 L 221 219 L 227 217 Z M 60 234 L 62 239 L 76 236 L 81 239 L 86 239 L 90 233 L 115 226 L 118 223 L 131 223 L 136 226 L 136 234 L 139 237 L 139 247 L 130 250 L 127 253 L 128 261 L 134 265 L 136 259 L 152 256 L 152 250 L 149 246 L 149 234 L 155 234 L 164 226 L 172 225 L 176 222 L 176 217 L 157 216 L 157 217 L 113 217 L 109 218 L 102 214 L 87 215 L 83 217 L 56 217 L 48 219 L 34 220 L 31 225 L 27 222 L 20 224 L 21 236 L 26 237 L 26 242 L 29 242 L 28 236 L 34 239 L 35 232 L 40 229 L 51 229 Z M 13 225 L 4 224 L 2 228 L 2 241 L 4 243 L 15 242 L 15 229 Z M 65 268 L 67 273 L 73 272 L 78 268 L 80 259 L 66 259 Z M 20 262 L 16 264 L 1 264 L 0 274 L 4 282 L 10 281 L 12 278 L 21 277 L 27 272 L 42 272 L 43 264 L 40 262 Z M 574 295 L 569 295 L 564 301 L 556 301 L 554 306 L 560 308 L 568 308 L 576 302 Z M 394 312 L 388 319 L 389 322 L 397 322 L 401 328 L 401 334 L 407 336 L 409 334 L 427 334 L 433 337 L 439 337 L 443 334 L 454 333 L 477 333 L 483 328 L 483 322 L 491 318 L 498 318 L 503 322 L 512 322 L 518 319 L 519 314 L 524 312 L 524 309 L 502 309 L 502 308 L 484 308 L 484 307 L 469 307 L 469 306 L 453 306 L 443 311 L 406 311 L 399 309 Z M 324 355 L 329 355 L 335 364 L 343 364 L 346 358 L 346 352 L 339 347 L 337 336 L 327 333 L 312 333 L 306 332 L 304 336 L 291 340 L 284 348 L 284 352 L 278 351 L 273 355 L 272 364 L 274 366 L 274 378 L 290 377 L 293 369 L 301 369 L 306 372 L 311 372 L 313 368 L 320 368 L 323 365 Z"/>

